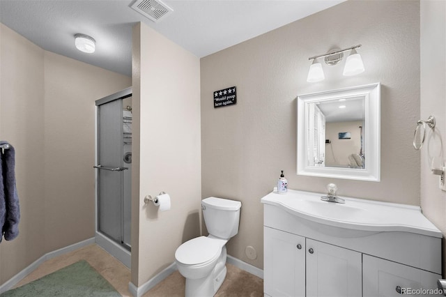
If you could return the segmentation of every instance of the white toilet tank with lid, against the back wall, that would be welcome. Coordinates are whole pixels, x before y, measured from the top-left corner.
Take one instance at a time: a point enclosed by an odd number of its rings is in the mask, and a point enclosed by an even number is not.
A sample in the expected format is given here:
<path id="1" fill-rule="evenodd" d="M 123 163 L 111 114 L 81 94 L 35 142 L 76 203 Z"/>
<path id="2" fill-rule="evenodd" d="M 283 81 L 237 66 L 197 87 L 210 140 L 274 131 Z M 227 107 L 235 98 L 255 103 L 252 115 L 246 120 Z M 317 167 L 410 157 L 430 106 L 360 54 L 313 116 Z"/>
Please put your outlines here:
<path id="1" fill-rule="evenodd" d="M 208 197 L 201 200 L 204 222 L 209 234 L 229 239 L 238 233 L 240 201 Z"/>

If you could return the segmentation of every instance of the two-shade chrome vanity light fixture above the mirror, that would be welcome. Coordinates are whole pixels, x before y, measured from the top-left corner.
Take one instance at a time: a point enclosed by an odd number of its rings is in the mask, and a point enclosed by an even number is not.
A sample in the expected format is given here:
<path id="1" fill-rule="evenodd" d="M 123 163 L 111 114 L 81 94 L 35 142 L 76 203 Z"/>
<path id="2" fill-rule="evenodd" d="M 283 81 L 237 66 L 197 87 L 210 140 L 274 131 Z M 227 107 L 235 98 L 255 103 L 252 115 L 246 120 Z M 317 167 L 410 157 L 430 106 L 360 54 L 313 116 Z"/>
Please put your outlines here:
<path id="1" fill-rule="evenodd" d="M 364 63 L 360 54 L 356 52 L 356 49 L 361 47 L 361 45 L 355 45 L 353 47 L 348 47 L 344 50 L 334 49 L 330 50 L 327 54 L 319 54 L 318 56 L 311 56 L 308 59 L 313 60 L 312 66 L 310 66 L 308 71 L 307 82 L 321 82 L 325 79 L 323 75 L 321 63 L 316 62 L 316 59 L 324 57 L 325 64 L 333 66 L 342 61 L 344 58 L 344 52 L 351 53 L 347 57 L 346 65 L 344 66 L 343 75 L 357 75 L 364 72 Z"/>

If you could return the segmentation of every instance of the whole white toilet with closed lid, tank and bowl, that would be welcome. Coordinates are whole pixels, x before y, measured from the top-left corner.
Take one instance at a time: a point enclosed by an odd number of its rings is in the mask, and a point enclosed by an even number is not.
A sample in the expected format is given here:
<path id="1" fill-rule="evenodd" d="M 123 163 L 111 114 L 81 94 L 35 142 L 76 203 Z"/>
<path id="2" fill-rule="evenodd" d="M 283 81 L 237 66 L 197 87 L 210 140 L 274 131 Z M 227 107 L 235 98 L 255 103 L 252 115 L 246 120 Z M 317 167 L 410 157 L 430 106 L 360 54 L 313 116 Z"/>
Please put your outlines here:
<path id="1" fill-rule="evenodd" d="M 209 197 L 201 201 L 208 236 L 192 238 L 175 252 L 186 278 L 185 297 L 214 296 L 226 277 L 226 243 L 238 233 L 240 201 Z"/>

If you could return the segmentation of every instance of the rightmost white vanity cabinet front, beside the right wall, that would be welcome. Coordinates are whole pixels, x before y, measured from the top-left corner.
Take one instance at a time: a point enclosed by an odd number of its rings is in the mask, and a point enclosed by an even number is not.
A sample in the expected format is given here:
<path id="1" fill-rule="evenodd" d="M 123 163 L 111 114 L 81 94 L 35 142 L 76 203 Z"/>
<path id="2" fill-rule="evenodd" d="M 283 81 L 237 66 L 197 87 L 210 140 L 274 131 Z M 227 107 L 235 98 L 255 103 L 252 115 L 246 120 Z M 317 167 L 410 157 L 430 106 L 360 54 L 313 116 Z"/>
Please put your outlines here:
<path id="1" fill-rule="evenodd" d="M 435 289 L 441 275 L 436 273 L 367 254 L 362 256 L 362 271 L 364 297 L 401 296 L 401 294 L 440 296 Z M 422 289 L 426 291 L 421 291 Z"/>

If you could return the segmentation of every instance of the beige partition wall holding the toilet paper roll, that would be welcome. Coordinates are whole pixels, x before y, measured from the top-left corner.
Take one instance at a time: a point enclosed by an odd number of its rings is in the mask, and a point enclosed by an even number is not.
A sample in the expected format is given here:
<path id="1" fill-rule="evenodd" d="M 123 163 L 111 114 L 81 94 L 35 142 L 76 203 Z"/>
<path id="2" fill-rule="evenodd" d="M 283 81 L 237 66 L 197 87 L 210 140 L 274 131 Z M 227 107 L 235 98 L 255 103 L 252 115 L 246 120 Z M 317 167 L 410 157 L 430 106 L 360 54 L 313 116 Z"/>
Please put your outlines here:
<path id="1" fill-rule="evenodd" d="M 132 283 L 139 286 L 200 234 L 200 61 L 144 24 L 134 26 L 133 43 L 133 161 L 139 168 L 132 167 Z M 158 213 L 144 197 L 161 191 L 171 196 L 171 210 Z"/>

